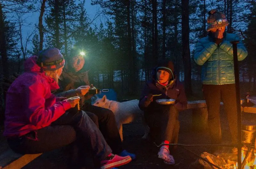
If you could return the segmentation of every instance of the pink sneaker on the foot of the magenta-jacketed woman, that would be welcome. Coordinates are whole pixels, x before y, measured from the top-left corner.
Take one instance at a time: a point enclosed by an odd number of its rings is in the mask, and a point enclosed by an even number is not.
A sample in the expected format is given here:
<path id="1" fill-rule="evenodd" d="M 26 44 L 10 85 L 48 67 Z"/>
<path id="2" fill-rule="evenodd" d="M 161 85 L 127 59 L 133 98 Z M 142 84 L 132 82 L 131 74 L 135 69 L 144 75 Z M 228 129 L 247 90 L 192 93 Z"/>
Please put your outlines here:
<path id="1" fill-rule="evenodd" d="M 100 161 L 100 165 L 101 165 L 100 169 L 118 167 L 121 165 L 125 165 L 131 161 L 132 161 L 132 158 L 130 156 L 121 157 L 121 156 L 112 154 L 110 157 L 107 157 L 106 160 Z"/>

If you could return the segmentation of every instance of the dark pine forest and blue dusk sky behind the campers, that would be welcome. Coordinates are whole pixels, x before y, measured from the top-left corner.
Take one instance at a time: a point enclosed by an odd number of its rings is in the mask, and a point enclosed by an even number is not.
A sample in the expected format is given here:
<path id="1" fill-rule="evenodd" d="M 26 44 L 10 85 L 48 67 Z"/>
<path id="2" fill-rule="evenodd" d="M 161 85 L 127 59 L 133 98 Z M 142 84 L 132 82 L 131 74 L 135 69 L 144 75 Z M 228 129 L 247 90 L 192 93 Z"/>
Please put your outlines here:
<path id="1" fill-rule="evenodd" d="M 97 6 L 93 16 L 88 3 Z M 236 33 L 248 50 L 239 62 L 240 91 L 255 95 L 255 0 L 0 0 L 0 84 L 22 73 L 24 60 L 39 50 L 57 47 L 67 58 L 79 45 L 90 83 L 113 88 L 118 98 L 139 98 L 156 62 L 169 58 L 188 98 L 203 99 L 193 53 L 197 40 L 207 36 L 213 8 L 225 13 L 227 32 Z"/>

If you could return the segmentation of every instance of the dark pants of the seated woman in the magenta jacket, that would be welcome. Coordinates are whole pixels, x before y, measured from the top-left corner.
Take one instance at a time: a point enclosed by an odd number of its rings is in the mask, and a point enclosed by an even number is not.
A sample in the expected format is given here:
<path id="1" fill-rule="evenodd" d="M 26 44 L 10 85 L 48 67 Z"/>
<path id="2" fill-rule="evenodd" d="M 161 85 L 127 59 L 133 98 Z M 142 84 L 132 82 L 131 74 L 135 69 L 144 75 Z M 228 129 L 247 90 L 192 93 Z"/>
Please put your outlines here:
<path id="1" fill-rule="evenodd" d="M 8 139 L 11 149 L 21 154 L 51 151 L 75 141 L 80 150 L 90 151 L 91 156 L 99 160 L 112 152 L 98 127 L 84 111 L 65 113 L 51 126 Z M 86 155 L 87 151 L 84 151 Z"/>

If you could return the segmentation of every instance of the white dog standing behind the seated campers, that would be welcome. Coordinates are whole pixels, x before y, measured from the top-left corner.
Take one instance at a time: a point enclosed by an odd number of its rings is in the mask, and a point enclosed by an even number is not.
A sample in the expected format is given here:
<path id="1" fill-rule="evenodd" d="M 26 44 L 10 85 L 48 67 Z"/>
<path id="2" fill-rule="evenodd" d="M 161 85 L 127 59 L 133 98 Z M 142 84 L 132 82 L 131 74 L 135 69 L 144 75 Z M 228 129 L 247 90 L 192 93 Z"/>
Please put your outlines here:
<path id="1" fill-rule="evenodd" d="M 102 98 L 97 98 L 93 105 L 110 109 L 111 111 L 113 111 L 122 141 L 123 124 L 131 123 L 132 121 L 137 120 L 138 118 L 141 118 L 145 130 L 145 134 L 142 137 L 142 139 L 146 139 L 148 137 L 149 127 L 145 123 L 143 111 L 141 111 L 139 108 L 139 100 L 116 102 L 113 100 L 108 100 L 107 96 L 104 95 Z"/>

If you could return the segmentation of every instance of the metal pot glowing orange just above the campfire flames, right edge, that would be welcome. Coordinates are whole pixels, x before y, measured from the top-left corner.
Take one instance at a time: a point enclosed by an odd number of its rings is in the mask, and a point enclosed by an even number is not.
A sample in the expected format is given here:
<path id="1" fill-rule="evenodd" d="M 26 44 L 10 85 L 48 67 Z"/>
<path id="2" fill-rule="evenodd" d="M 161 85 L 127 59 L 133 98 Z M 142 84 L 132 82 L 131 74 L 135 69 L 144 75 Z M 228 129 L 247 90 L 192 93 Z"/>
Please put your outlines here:
<path id="1" fill-rule="evenodd" d="M 255 140 L 255 131 L 256 125 L 242 125 L 242 142 L 251 144 Z"/>

